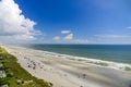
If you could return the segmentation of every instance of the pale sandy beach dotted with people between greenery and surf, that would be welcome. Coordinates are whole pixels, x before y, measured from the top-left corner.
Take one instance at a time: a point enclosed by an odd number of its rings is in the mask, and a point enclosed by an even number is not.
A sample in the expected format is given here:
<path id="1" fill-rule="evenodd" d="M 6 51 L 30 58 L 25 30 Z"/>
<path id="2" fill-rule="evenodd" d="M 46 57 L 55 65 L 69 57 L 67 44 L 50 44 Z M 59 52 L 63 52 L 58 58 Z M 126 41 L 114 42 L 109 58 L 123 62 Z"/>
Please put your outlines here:
<path id="1" fill-rule="evenodd" d="M 52 83 L 52 87 L 131 87 L 131 72 L 47 55 L 21 47 L 5 49 L 17 58 L 22 67 Z"/>

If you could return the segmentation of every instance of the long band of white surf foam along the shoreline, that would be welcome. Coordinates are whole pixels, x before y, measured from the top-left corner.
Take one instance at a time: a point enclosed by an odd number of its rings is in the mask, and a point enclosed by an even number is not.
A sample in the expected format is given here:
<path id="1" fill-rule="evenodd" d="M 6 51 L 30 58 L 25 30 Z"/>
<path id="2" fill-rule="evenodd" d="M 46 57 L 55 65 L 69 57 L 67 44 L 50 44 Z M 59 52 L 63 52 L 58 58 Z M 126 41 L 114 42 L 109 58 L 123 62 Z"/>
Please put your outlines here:
<path id="1" fill-rule="evenodd" d="M 106 66 L 106 67 L 111 67 L 111 69 L 117 69 L 117 70 L 124 70 L 126 67 L 131 69 L 131 64 L 127 64 L 127 63 L 118 63 L 118 62 L 111 62 L 111 61 L 104 61 L 104 60 L 97 60 L 97 59 L 61 54 L 61 53 L 56 53 L 56 52 L 25 48 L 25 47 L 13 47 L 13 48 L 26 49 L 28 51 L 39 52 L 44 55 L 48 55 L 48 57 L 52 57 L 52 58 L 61 58 L 61 59 L 67 59 L 67 60 L 71 60 L 71 61 L 78 61 L 78 62 L 87 63 L 87 64 L 92 64 L 92 65 Z"/>

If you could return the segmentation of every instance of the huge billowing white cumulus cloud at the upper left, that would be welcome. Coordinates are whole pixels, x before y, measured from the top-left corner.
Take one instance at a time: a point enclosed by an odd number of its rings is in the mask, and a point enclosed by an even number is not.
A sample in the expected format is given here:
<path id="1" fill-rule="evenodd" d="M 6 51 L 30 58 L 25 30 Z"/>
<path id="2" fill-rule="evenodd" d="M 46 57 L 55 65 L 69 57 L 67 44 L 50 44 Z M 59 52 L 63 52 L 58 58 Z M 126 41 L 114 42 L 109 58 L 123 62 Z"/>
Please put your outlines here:
<path id="1" fill-rule="evenodd" d="M 0 39 L 33 40 L 40 32 L 26 18 L 14 0 L 0 0 Z"/>

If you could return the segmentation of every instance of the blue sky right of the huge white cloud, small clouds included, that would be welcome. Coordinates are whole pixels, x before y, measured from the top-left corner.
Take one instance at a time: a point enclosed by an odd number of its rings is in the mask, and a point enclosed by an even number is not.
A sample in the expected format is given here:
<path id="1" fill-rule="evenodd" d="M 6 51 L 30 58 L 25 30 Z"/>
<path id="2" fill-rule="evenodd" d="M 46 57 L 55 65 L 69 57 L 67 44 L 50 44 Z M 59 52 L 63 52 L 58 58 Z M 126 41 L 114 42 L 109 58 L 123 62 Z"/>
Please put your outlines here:
<path id="1" fill-rule="evenodd" d="M 14 2 L 25 18 L 36 23 L 33 27 L 39 34 L 31 42 L 131 44 L 131 0 Z"/>

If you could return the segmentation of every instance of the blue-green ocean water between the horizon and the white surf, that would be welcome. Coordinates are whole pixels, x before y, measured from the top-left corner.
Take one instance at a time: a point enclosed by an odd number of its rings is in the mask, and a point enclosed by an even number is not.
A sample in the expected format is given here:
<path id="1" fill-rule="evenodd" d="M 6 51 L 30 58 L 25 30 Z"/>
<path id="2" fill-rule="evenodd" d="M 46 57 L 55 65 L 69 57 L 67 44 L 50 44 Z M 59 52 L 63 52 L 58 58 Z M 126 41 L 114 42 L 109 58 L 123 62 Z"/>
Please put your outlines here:
<path id="1" fill-rule="evenodd" d="M 131 64 L 131 45 L 26 45 L 56 53 Z"/>

